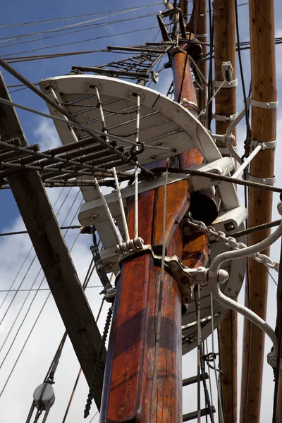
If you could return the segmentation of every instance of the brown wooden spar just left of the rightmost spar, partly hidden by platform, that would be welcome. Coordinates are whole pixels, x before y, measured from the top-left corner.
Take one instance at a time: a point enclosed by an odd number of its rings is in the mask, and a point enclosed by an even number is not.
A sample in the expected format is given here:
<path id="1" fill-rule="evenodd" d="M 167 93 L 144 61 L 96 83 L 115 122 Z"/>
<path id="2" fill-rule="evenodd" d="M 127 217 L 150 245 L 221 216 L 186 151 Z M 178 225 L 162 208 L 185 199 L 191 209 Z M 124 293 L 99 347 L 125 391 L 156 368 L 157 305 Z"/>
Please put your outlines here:
<path id="1" fill-rule="evenodd" d="M 214 79 L 223 81 L 221 64 L 230 61 L 235 79 L 235 1 L 214 0 Z M 225 134 L 231 121 L 221 121 L 236 113 L 236 88 L 221 88 L 215 97 L 216 133 Z M 222 117 L 221 117 L 222 116 Z M 230 119 L 230 118 L 229 118 Z M 233 131 L 235 135 L 235 130 Z M 216 141 L 218 147 L 225 143 Z M 224 155 L 224 153 L 222 152 Z M 237 313 L 230 310 L 219 327 L 221 387 L 226 422 L 237 423 Z"/>

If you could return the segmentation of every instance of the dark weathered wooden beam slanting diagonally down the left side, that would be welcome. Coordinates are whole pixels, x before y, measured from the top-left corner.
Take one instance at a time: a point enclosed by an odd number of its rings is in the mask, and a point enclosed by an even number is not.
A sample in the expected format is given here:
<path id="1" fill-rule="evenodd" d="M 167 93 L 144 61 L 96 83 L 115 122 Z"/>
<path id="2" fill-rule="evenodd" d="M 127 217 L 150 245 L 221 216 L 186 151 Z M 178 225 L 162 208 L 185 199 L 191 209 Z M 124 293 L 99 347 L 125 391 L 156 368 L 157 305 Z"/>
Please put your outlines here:
<path id="1" fill-rule="evenodd" d="M 0 80 L 0 97 L 10 99 L 3 78 Z M 15 109 L 0 106 L 1 140 L 19 137 L 27 145 Z M 71 339 L 88 384 L 92 379 L 102 337 L 95 323 L 90 305 L 82 290 L 78 275 L 56 217 L 51 209 L 39 173 L 25 171 L 8 178 L 21 216 L 30 235 L 35 252 L 42 266 L 63 324 Z M 102 354 L 102 367 L 94 400 L 99 407 L 102 396 L 102 378 L 106 350 Z"/>

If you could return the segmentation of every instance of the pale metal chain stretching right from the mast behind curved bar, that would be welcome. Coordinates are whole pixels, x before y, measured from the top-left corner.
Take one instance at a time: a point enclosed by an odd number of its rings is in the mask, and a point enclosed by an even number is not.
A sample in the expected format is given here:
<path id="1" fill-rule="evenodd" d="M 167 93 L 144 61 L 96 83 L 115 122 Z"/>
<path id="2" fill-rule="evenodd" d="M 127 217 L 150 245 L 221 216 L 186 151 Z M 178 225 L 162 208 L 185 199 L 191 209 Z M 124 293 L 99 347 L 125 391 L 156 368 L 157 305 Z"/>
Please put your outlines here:
<path id="1" fill-rule="evenodd" d="M 243 248 L 247 248 L 247 245 L 244 243 L 238 243 L 235 238 L 232 236 L 226 236 L 224 232 L 216 231 L 213 226 L 206 226 L 204 222 L 201 221 L 188 221 L 188 224 L 193 228 L 200 229 L 200 231 L 204 232 L 207 236 L 212 236 L 216 238 L 216 241 L 222 241 L 228 247 L 231 247 L 232 250 L 240 250 Z M 274 269 L 279 271 L 279 263 L 275 260 L 271 260 L 270 257 L 261 254 L 260 252 L 256 252 L 255 254 L 251 255 L 256 262 L 264 264 L 264 266 L 269 267 L 270 269 Z"/>

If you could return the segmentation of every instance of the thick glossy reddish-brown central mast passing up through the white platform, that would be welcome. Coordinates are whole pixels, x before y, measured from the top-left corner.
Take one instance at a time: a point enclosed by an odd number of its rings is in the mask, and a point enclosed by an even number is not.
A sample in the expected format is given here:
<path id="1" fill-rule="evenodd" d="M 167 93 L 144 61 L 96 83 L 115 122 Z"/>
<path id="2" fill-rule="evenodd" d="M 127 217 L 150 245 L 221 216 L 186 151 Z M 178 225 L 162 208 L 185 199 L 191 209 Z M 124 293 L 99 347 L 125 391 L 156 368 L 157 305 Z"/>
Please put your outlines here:
<path id="1" fill-rule="evenodd" d="M 183 44 L 170 52 L 174 93 L 176 98 L 185 97 L 188 107 L 197 114 L 186 50 L 187 44 Z M 179 161 L 180 167 L 188 167 L 202 163 L 202 156 L 195 150 L 182 154 Z M 163 232 L 164 202 L 166 229 Z M 189 207 L 190 192 L 184 180 L 168 185 L 166 194 L 164 187 L 145 192 L 139 197 L 139 233 L 145 244 L 151 244 L 158 253 L 165 243 L 168 256 L 183 257 L 185 265 L 197 267 L 207 262 L 207 238 L 195 233 L 183 239 L 180 221 Z M 134 212 L 132 201 L 128 212 L 131 237 Z M 180 423 L 183 419 L 182 307 L 178 284 L 166 270 L 161 280 L 161 269 L 147 252 L 123 262 L 116 285 L 101 422 Z"/>

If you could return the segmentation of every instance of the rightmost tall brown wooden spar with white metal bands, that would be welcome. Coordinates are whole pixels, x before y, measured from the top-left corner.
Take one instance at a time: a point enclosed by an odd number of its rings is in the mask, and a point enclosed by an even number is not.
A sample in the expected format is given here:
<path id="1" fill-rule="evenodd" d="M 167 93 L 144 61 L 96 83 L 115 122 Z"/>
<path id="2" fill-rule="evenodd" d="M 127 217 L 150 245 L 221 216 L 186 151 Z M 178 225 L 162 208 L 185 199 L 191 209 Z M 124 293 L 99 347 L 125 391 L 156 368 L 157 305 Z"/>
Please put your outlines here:
<path id="1" fill-rule="evenodd" d="M 276 68 L 274 35 L 274 1 L 250 0 L 250 46 L 252 70 L 252 139 L 258 142 L 276 140 Z M 266 103 L 269 103 L 267 106 Z M 274 107 L 273 109 L 271 107 Z M 250 176 L 274 177 L 274 149 L 259 152 L 250 165 Z M 257 179 L 256 179 L 257 180 Z M 266 183 L 271 180 L 266 179 Z M 270 191 L 249 190 L 249 226 L 271 220 Z M 269 230 L 250 235 L 250 245 L 259 243 Z M 269 255 L 269 250 L 264 251 Z M 262 319 L 266 319 L 268 273 L 263 264 L 249 261 L 249 290 L 246 285 L 246 305 Z M 249 298 L 250 293 L 250 298 Z M 249 304 L 250 300 L 250 304 Z M 262 395 L 262 369 L 266 361 L 264 333 L 245 321 L 243 340 L 243 368 L 240 421 L 259 422 Z"/>

